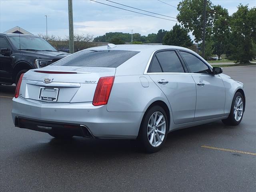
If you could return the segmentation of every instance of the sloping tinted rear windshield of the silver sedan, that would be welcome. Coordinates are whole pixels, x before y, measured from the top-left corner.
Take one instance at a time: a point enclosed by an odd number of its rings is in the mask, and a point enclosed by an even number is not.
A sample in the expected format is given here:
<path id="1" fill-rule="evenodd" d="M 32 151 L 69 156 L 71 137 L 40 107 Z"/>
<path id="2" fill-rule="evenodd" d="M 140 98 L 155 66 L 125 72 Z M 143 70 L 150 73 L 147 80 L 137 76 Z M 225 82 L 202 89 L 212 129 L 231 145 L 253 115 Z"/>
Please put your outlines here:
<path id="1" fill-rule="evenodd" d="M 83 50 L 67 56 L 52 65 L 116 68 L 138 53 L 138 51 L 125 50 Z"/>

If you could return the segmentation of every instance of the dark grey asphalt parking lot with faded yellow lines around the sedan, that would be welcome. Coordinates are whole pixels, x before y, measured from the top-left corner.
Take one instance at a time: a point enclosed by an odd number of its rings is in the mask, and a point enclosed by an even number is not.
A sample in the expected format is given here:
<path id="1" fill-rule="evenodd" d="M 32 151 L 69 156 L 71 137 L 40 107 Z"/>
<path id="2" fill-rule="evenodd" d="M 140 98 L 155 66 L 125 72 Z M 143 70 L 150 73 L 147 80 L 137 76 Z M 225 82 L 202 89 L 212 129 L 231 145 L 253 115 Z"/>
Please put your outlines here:
<path id="1" fill-rule="evenodd" d="M 1 191 L 255 192 L 256 66 L 224 73 L 245 84 L 241 124 L 217 121 L 172 132 L 155 154 L 140 152 L 130 140 L 56 140 L 15 128 L 15 87 L 1 86 Z"/>

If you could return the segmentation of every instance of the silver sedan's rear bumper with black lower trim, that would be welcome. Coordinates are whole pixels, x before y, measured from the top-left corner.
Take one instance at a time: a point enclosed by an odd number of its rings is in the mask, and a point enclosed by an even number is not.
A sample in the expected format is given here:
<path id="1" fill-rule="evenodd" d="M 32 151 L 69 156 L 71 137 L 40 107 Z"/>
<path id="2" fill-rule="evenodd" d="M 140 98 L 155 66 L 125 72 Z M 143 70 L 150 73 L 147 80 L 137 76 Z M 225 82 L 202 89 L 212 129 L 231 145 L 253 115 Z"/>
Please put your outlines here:
<path id="1" fill-rule="evenodd" d="M 13 98 L 12 108 L 13 122 L 21 128 L 48 132 L 47 127 L 56 131 L 74 131 L 76 127 L 80 133 L 74 135 L 84 136 L 81 126 L 85 126 L 96 138 L 134 139 L 143 115 L 144 112 L 108 112 L 106 106 L 92 103 L 40 102 L 21 97 Z M 19 124 L 21 119 L 28 121 Z"/>

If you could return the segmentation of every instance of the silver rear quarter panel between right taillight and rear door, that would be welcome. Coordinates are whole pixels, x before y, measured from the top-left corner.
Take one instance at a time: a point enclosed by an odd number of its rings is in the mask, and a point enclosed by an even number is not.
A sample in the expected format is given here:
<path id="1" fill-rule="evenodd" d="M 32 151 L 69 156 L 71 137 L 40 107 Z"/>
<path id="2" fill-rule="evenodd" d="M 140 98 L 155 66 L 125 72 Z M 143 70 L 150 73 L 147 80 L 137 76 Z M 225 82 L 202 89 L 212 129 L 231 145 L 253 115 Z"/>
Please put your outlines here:
<path id="1" fill-rule="evenodd" d="M 140 79 L 143 79 L 143 82 Z M 145 87 L 146 81 L 148 81 L 148 87 Z M 150 104 L 157 100 L 165 102 L 171 111 L 166 96 L 148 75 L 116 76 L 107 110 L 109 112 L 145 112 Z"/>

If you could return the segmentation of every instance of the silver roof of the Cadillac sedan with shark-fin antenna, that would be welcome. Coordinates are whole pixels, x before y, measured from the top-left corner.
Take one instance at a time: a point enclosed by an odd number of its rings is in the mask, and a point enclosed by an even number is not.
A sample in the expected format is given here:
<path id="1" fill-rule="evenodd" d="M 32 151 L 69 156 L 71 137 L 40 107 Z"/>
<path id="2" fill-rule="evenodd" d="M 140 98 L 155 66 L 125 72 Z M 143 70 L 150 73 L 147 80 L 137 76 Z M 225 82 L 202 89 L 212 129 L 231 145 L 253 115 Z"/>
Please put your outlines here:
<path id="1" fill-rule="evenodd" d="M 171 46 L 171 45 L 140 45 L 140 44 L 124 44 L 124 45 L 116 45 L 114 48 L 108 49 L 108 46 L 98 46 L 88 48 L 87 50 L 127 50 L 127 51 L 139 51 L 139 52 L 154 52 L 156 50 L 162 49 L 180 49 L 180 50 L 188 50 L 188 48 L 179 47 L 179 46 Z"/>

